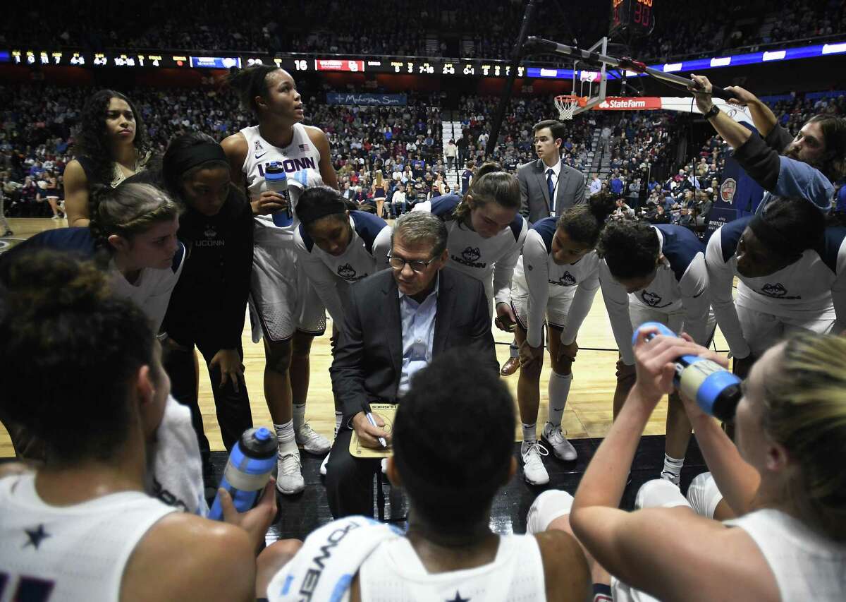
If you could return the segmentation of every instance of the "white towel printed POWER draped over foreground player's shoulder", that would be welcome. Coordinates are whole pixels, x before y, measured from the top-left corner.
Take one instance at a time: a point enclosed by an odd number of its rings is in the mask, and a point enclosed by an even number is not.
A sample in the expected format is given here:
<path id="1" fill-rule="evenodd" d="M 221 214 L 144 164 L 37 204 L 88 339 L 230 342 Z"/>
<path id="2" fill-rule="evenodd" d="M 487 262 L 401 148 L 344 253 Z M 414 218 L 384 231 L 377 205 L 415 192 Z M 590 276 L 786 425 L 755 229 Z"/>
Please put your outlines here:
<path id="1" fill-rule="evenodd" d="M 270 602 L 349 600 L 349 586 L 376 546 L 403 537 L 393 526 L 365 516 L 347 516 L 313 531 L 297 555 L 267 586 Z"/>

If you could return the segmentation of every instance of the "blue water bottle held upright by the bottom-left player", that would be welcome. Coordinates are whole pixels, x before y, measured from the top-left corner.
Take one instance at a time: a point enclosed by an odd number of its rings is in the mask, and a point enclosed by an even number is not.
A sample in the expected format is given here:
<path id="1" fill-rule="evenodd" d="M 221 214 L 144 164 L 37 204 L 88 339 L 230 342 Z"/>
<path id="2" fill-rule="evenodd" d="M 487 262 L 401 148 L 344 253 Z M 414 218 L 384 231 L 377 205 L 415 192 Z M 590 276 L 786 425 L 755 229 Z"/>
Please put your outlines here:
<path id="1" fill-rule="evenodd" d="M 220 487 L 232 495 L 237 511 L 246 512 L 255 505 L 276 466 L 276 454 L 276 435 L 264 427 L 245 430 L 232 448 Z M 215 496 L 209 518 L 223 520 L 220 494 Z"/>

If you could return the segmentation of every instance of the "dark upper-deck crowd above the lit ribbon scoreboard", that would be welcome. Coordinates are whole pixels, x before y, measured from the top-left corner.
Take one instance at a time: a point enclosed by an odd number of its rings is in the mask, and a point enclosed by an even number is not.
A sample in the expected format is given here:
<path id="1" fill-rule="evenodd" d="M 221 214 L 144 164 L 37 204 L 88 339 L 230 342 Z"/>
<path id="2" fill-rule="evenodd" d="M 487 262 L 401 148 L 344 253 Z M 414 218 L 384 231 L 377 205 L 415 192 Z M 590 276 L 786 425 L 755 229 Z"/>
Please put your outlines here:
<path id="1" fill-rule="evenodd" d="M 299 4 L 296 8 L 268 0 L 222 0 L 214 10 L 198 0 L 175 4 L 130 0 L 97 6 L 96 10 L 91 7 L 91 3 L 72 0 L 65 4 L 64 18 L 55 19 L 47 7 L 12 5 L 0 25 L 0 47 L 31 47 L 31 25 L 37 24 L 39 47 L 44 48 L 510 58 L 525 13 L 525 3 L 518 0 L 495 6 L 472 0 L 460 8 L 446 0 L 423 6 L 406 0 L 364 0 L 355 5 L 360 19 L 351 19 L 349 10 L 338 0 Z M 666 61 L 689 54 L 807 41 L 846 32 L 846 10 L 839 0 L 717 0 L 709 5 L 707 19 L 690 19 L 699 8 L 700 3 L 694 0 L 654 5 L 655 28 L 648 37 L 630 40 L 633 55 Z M 294 14 L 296 18 L 291 19 Z M 574 14 L 578 14 L 578 19 L 573 19 Z M 776 18 L 772 28 L 762 27 L 768 17 Z M 586 47 L 607 35 L 608 22 L 606 3 L 541 3 L 532 33 L 565 43 L 578 41 Z"/>

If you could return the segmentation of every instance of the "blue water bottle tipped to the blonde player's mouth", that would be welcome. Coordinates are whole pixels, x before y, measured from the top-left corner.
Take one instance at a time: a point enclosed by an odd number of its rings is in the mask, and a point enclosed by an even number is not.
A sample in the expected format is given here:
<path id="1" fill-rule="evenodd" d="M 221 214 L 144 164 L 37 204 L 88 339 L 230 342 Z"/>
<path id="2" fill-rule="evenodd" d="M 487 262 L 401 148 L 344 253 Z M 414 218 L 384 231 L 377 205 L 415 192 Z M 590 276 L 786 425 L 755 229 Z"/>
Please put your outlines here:
<path id="1" fill-rule="evenodd" d="M 660 322 L 645 322 L 635 329 L 632 345 L 637 340 L 638 330 L 645 327 L 655 327 L 658 334 L 665 336 L 678 336 Z M 646 340 L 654 336 L 649 334 Z M 699 356 L 681 356 L 676 359 L 673 384 L 689 399 L 695 399 L 702 411 L 723 422 L 733 420 L 734 411 L 743 396 L 740 392 L 740 378 L 717 362 Z"/>

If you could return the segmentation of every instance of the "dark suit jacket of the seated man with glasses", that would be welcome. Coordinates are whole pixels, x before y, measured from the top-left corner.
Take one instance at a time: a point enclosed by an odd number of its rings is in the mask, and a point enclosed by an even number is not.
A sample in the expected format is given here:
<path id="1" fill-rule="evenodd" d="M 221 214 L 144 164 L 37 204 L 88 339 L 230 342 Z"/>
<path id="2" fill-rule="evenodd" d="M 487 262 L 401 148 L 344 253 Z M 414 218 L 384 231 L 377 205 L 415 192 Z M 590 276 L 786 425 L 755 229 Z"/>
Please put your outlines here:
<path id="1" fill-rule="evenodd" d="M 443 268 L 440 279 L 432 357 L 452 347 L 465 347 L 468 362 L 498 373 L 485 287 L 451 268 Z M 360 412 L 364 400 L 396 403 L 403 369 L 399 295 L 392 270 L 353 284 L 349 296 L 329 368 L 332 393 L 343 406 L 344 419 Z"/>

